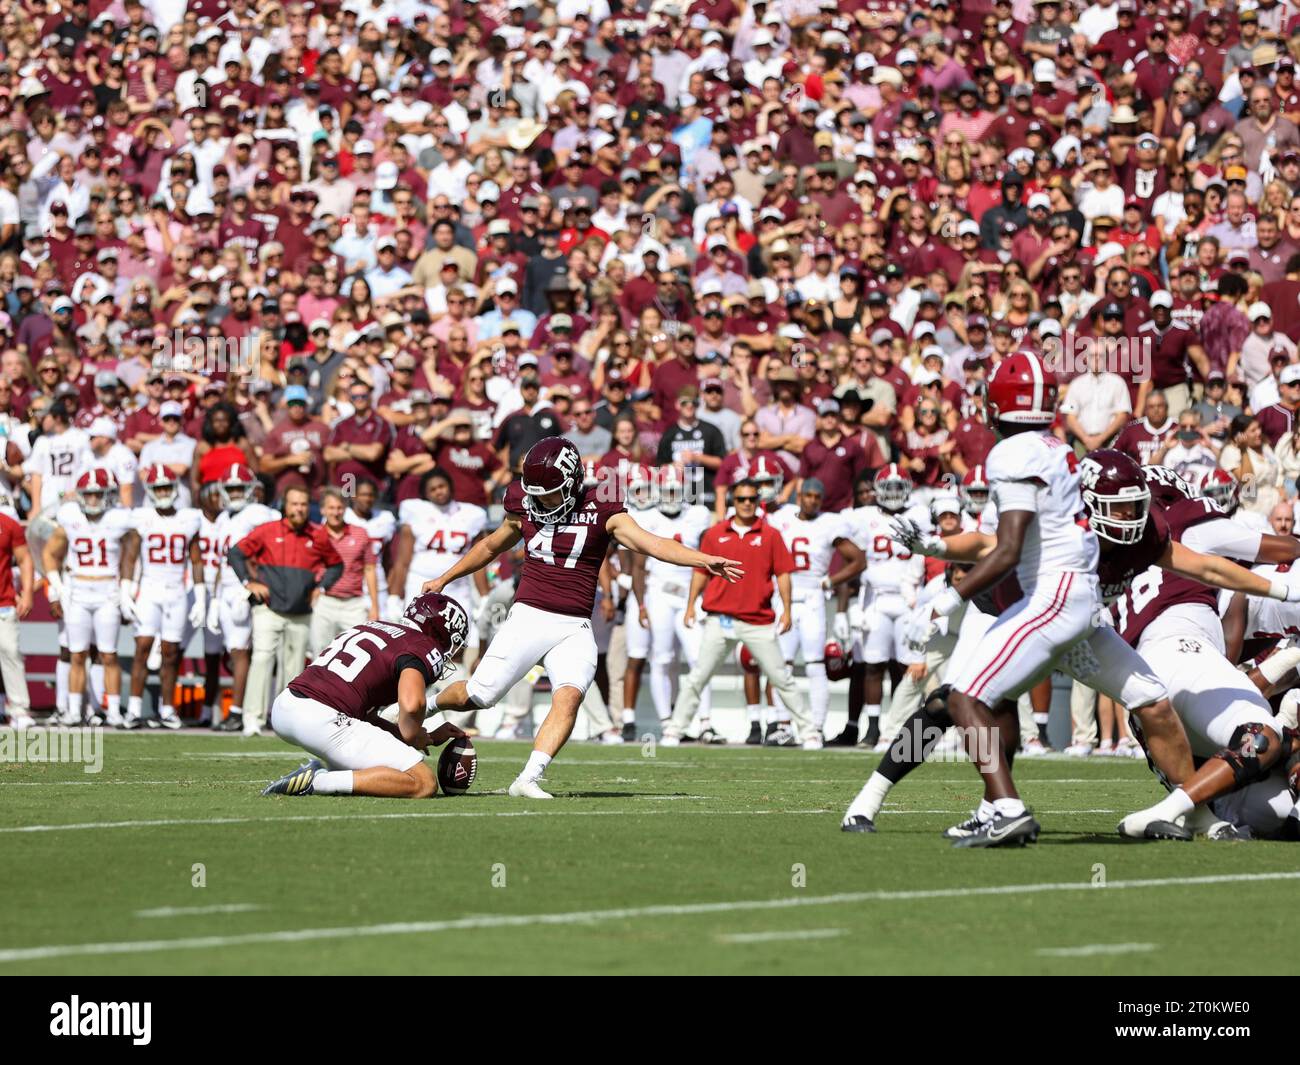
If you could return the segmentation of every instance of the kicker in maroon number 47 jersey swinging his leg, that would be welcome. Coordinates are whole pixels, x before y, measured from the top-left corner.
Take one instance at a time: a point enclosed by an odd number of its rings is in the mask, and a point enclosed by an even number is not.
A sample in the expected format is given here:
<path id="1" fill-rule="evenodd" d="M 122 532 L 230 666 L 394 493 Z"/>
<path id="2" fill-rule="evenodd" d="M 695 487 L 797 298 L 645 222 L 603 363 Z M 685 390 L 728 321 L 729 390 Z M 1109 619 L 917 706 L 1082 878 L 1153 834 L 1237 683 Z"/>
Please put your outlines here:
<path id="1" fill-rule="evenodd" d="M 642 529 L 623 507 L 615 479 L 584 486 L 582 456 L 559 437 L 534 443 L 523 472 L 506 490 L 506 520 L 447 572 L 428 581 L 441 593 L 476 573 L 520 540 L 526 544 L 515 603 L 478 668 L 438 694 L 439 710 L 481 710 L 508 692 L 538 661 L 551 681 L 551 709 L 533 753 L 510 785 L 512 796 L 550 798 L 538 782 L 573 731 L 577 709 L 595 677 L 592 611 L 601 564 L 614 544 L 673 566 L 738 580 L 742 567 Z"/>

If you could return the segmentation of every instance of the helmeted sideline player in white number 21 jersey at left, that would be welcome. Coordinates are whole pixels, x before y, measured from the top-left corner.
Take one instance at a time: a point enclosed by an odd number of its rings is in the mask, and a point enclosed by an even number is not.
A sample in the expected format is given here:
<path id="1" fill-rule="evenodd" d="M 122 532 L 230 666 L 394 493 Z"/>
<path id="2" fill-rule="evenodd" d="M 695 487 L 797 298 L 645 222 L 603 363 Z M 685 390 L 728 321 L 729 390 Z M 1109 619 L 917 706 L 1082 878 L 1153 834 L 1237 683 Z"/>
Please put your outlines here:
<path id="1" fill-rule="evenodd" d="M 86 698 L 86 653 L 99 649 L 104 667 L 104 701 L 110 722 L 121 722 L 122 667 L 117 661 L 117 636 L 122 611 L 135 598 L 135 583 L 126 568 L 139 545 L 131 528 L 131 512 L 113 506 L 117 481 L 107 469 L 87 469 L 77 479 L 77 501 L 66 502 L 55 515 L 55 529 L 44 549 L 46 594 L 53 616 L 64 618 L 72 667 L 68 672 L 68 720 L 82 723 Z M 66 588 L 60 579 L 68 562 Z M 91 723 L 99 720 L 98 707 Z"/>

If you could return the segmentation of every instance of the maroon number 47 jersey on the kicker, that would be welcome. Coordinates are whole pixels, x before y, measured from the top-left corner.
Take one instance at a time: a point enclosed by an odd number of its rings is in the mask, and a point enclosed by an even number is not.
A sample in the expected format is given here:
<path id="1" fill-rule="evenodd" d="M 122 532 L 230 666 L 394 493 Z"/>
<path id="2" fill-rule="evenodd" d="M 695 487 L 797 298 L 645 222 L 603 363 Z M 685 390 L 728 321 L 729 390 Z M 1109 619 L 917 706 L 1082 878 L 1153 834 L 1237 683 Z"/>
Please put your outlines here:
<path id="1" fill-rule="evenodd" d="M 538 525 L 528 516 L 520 481 L 506 489 L 506 514 L 519 519 L 526 549 L 515 602 L 569 618 L 592 616 L 597 576 L 614 540 L 604 527 L 624 512 L 621 492 L 602 498 L 610 494 L 602 485 L 585 489 L 569 516 L 554 525 Z"/>

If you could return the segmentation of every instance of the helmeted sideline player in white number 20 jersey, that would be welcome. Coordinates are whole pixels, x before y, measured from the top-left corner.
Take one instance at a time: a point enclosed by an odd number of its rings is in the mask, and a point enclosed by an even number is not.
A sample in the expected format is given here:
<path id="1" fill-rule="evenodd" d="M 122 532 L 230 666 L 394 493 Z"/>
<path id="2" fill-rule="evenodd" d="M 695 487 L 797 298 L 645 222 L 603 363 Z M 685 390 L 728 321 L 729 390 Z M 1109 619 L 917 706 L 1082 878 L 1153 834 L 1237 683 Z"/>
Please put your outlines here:
<path id="1" fill-rule="evenodd" d="M 173 702 L 177 676 L 181 672 L 181 648 L 186 623 L 195 628 L 208 616 L 208 589 L 203 584 L 203 546 L 199 529 L 203 515 L 194 507 L 178 507 L 181 482 L 161 463 L 140 472 L 148 503 L 130 511 L 133 527 L 139 533 L 139 594 L 130 603 L 129 620 L 135 622 L 135 655 L 131 658 L 131 694 L 126 702 L 124 728 L 138 728 L 144 718 L 144 681 L 148 679 L 150 649 L 155 640 L 162 644 L 159 670 L 157 723 L 179 728 Z M 122 572 L 135 570 L 134 553 L 127 549 Z M 185 564 L 194 572 L 192 601 L 185 594 Z M 124 605 L 127 601 L 124 599 Z M 192 602 L 192 606 L 191 606 Z M 125 611 L 124 611 L 125 612 Z M 109 715 L 109 724 L 113 724 Z"/>

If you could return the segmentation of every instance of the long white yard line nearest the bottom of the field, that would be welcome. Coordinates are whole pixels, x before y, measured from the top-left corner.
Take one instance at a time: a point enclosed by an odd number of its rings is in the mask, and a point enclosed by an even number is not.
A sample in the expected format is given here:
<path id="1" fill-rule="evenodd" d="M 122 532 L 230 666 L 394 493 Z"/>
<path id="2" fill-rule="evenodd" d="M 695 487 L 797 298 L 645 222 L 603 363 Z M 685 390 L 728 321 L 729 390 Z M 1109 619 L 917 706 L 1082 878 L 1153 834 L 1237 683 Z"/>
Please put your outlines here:
<path id="1" fill-rule="evenodd" d="M 1221 876 L 1166 876 L 1154 880 L 1112 880 L 1105 887 L 1097 887 L 1088 880 L 1075 880 L 1067 883 L 1002 884 L 998 887 L 932 888 L 928 891 L 858 891 L 840 895 L 792 895 L 784 899 L 737 899 L 729 902 L 628 906 L 610 910 L 480 914 L 450 921 L 404 921 L 387 925 L 351 925 L 332 928 L 286 928 L 278 932 L 247 932 L 243 935 L 185 936 L 182 939 L 143 939 L 118 943 L 57 943 L 43 947 L 20 947 L 0 951 L 0 964 L 64 957 L 103 957 L 105 954 L 151 954 L 165 951 L 212 951 L 224 947 L 251 947 L 264 943 L 311 943 L 329 939 L 359 939 L 364 936 L 428 935 L 474 928 L 592 925 L 599 921 L 630 921 L 646 917 L 701 917 L 738 912 L 800 909 L 803 906 L 842 906 L 859 902 L 913 902 L 930 899 L 1039 895 L 1056 891 L 1144 891 L 1165 887 L 1268 883 L 1273 880 L 1300 880 L 1300 871 L 1236 873 Z"/>

